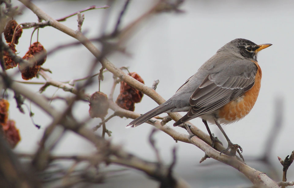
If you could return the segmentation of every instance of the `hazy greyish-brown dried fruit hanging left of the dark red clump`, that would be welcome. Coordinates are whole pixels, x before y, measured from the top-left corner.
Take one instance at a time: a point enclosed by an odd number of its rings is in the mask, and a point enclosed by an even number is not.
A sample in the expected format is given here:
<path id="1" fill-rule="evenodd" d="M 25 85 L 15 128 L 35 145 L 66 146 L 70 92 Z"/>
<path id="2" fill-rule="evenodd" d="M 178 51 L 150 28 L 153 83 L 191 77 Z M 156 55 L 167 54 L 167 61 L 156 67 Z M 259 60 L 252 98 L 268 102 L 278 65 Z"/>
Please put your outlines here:
<path id="1" fill-rule="evenodd" d="M 90 98 L 90 109 L 89 114 L 91 118 L 100 117 L 104 118 L 107 115 L 109 108 L 109 102 L 107 100 L 107 95 L 96 91 L 92 94 Z"/>

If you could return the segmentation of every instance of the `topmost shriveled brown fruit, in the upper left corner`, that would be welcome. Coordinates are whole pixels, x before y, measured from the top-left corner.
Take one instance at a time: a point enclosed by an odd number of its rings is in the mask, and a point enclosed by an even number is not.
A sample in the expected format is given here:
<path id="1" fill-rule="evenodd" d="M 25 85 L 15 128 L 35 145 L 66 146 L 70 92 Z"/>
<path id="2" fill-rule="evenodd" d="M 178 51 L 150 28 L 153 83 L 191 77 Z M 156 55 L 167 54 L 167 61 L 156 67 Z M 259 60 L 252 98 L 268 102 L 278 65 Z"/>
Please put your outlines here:
<path id="1" fill-rule="evenodd" d="M 10 20 L 9 22 L 7 22 L 5 29 L 4 29 L 4 37 L 6 42 L 11 42 L 14 44 L 18 44 L 18 39 L 21 37 L 22 34 L 22 28 L 21 26 L 17 26 L 17 22 L 15 20 Z M 17 29 L 15 29 L 17 27 Z M 14 41 L 12 42 L 12 38 L 13 38 L 13 33 L 15 30 L 15 35 L 14 35 Z"/>

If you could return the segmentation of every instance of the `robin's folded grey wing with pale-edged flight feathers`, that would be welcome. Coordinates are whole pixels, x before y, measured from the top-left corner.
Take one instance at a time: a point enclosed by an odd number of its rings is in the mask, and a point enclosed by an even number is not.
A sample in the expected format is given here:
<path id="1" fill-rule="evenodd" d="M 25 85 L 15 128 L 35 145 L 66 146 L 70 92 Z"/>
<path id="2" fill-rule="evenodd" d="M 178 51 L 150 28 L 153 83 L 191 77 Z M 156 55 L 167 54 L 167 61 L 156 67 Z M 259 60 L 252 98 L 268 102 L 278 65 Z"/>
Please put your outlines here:
<path id="1" fill-rule="evenodd" d="M 251 89 L 257 67 L 249 60 L 238 60 L 210 72 L 191 95 L 190 110 L 174 126 L 212 112 Z"/>

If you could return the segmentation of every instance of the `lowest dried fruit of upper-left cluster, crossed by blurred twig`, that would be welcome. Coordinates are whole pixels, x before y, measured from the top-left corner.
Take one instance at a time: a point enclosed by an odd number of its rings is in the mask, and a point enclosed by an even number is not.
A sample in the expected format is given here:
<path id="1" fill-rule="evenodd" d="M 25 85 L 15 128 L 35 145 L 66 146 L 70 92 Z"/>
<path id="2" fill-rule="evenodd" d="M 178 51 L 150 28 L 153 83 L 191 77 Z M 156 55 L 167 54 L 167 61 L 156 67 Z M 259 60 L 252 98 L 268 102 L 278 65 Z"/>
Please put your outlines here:
<path id="1" fill-rule="evenodd" d="M 26 53 L 23 59 L 26 59 L 32 62 L 30 63 L 30 65 L 24 64 L 24 63 L 18 64 L 18 69 L 21 72 L 22 79 L 28 80 L 28 79 L 34 78 L 40 69 L 40 66 L 37 65 L 37 61 L 35 57 L 31 54 Z"/>

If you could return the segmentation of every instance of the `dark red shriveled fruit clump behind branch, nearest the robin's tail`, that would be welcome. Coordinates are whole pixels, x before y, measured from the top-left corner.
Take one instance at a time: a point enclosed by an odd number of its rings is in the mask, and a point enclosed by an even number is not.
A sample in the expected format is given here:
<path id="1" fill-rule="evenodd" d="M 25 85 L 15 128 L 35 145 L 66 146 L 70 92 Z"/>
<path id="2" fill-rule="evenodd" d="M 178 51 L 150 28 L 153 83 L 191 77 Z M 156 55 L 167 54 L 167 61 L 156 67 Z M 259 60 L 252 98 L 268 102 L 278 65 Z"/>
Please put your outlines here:
<path id="1" fill-rule="evenodd" d="M 139 82 L 144 83 L 143 79 L 136 72 L 132 72 L 129 75 Z M 120 82 L 120 94 L 116 99 L 116 104 L 123 109 L 134 111 L 135 103 L 140 102 L 142 97 L 143 93 L 141 91 L 122 81 Z"/>

